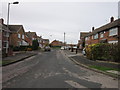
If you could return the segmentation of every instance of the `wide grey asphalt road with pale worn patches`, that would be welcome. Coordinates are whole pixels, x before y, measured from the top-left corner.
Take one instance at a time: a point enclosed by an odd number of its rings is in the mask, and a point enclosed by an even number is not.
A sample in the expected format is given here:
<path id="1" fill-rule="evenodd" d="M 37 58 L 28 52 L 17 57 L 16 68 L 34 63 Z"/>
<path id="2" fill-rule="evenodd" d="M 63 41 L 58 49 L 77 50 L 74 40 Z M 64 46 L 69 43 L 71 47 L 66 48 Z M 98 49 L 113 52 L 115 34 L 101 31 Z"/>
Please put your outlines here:
<path id="1" fill-rule="evenodd" d="M 2 69 L 3 88 L 118 88 L 117 79 L 77 66 L 61 50 Z"/>

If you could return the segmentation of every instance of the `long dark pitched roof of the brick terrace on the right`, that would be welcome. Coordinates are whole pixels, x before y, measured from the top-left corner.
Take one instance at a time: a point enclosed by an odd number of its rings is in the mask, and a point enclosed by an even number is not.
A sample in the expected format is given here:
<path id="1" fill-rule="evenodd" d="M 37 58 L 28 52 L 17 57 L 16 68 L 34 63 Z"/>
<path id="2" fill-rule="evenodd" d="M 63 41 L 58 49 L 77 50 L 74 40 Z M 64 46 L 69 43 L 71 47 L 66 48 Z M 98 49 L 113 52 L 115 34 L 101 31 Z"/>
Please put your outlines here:
<path id="1" fill-rule="evenodd" d="M 86 35 L 86 37 L 90 36 L 90 35 L 93 35 L 93 34 L 96 34 L 96 33 L 99 33 L 99 32 L 104 31 L 104 30 L 108 30 L 108 29 L 116 27 L 116 26 L 120 26 L 120 19 L 117 19 L 117 20 L 115 20 L 115 21 L 113 21 L 111 23 L 108 23 L 108 24 L 103 25 L 103 26 L 101 26 L 99 28 L 96 28 L 93 32 Z"/>

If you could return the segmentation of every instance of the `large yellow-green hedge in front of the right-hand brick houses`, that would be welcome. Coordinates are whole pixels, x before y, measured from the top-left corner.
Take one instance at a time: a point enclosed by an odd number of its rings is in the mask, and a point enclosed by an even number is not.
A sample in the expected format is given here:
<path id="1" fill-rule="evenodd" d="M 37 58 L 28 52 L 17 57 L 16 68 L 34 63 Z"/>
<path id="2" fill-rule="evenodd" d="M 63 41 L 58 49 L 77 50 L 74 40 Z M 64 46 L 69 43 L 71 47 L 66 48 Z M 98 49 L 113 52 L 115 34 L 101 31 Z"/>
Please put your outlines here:
<path id="1" fill-rule="evenodd" d="M 86 56 L 91 60 L 120 62 L 120 46 L 108 43 L 92 44 L 86 47 Z"/>

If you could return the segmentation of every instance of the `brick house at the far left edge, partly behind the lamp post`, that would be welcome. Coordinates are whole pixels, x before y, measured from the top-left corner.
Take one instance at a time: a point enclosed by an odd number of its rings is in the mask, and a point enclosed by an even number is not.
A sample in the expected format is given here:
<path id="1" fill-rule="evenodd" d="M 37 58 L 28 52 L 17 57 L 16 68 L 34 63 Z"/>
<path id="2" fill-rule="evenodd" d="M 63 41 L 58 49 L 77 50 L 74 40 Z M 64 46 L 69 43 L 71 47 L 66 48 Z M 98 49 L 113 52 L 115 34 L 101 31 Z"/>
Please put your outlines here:
<path id="1" fill-rule="evenodd" d="M 2 52 L 2 57 L 12 55 L 11 31 L 4 24 L 4 20 L 0 19 L 0 52 Z"/>

